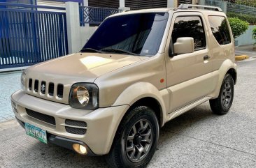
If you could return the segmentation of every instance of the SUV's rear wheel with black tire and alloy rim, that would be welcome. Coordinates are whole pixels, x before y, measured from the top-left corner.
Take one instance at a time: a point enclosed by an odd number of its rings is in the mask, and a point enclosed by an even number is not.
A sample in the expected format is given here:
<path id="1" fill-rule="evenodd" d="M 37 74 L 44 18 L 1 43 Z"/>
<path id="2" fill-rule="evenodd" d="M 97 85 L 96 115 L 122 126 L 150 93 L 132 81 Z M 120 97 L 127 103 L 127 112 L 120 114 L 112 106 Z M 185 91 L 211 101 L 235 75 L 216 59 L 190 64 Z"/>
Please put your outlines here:
<path id="1" fill-rule="evenodd" d="M 230 74 L 226 74 L 220 88 L 219 97 L 210 100 L 213 113 L 222 115 L 229 112 L 234 98 L 234 79 Z"/>

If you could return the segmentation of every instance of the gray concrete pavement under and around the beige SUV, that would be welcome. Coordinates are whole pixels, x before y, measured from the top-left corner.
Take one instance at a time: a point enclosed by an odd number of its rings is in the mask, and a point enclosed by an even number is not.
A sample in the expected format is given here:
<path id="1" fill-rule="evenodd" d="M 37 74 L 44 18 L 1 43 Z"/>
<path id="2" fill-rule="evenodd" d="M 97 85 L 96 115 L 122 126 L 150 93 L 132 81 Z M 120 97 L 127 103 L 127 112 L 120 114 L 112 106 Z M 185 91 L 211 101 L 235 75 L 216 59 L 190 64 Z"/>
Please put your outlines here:
<path id="1" fill-rule="evenodd" d="M 148 167 L 255 167 L 256 60 L 239 63 L 234 104 L 224 116 L 208 102 L 166 123 Z M 25 135 L 15 121 L 0 124 L 0 167 L 106 167 L 103 157 L 86 157 Z"/>

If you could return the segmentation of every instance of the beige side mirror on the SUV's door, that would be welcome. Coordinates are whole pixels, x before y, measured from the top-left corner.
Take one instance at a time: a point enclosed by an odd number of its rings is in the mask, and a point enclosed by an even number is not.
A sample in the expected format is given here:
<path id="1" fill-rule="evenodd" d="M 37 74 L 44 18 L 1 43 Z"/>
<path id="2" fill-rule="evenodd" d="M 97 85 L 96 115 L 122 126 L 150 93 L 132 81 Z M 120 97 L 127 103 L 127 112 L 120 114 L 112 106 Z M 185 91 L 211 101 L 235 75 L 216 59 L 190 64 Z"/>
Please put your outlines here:
<path id="1" fill-rule="evenodd" d="M 177 38 L 173 44 L 174 54 L 187 54 L 194 52 L 194 38 Z"/>

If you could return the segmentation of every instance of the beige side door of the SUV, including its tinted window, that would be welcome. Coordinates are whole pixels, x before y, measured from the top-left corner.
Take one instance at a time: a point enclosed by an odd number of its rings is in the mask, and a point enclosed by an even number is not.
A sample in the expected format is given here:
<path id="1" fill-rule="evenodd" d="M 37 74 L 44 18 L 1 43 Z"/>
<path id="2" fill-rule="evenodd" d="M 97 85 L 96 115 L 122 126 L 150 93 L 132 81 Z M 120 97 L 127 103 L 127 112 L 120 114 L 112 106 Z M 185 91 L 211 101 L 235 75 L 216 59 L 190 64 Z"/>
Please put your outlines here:
<path id="1" fill-rule="evenodd" d="M 213 91 L 212 61 L 208 29 L 204 16 L 197 12 L 173 14 L 167 49 L 177 38 L 194 38 L 195 50 L 189 54 L 166 56 L 167 89 L 170 96 L 169 112 L 185 107 L 208 96 Z"/>

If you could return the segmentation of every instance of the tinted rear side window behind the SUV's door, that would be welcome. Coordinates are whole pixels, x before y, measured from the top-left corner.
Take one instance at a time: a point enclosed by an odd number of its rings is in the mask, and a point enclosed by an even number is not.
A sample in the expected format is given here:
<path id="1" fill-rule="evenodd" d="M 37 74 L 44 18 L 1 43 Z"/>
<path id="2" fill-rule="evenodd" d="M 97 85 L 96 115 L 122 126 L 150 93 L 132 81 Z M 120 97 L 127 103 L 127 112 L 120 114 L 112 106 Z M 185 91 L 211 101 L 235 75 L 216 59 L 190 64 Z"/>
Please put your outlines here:
<path id="1" fill-rule="evenodd" d="M 227 20 L 223 16 L 209 16 L 211 31 L 213 36 L 220 45 L 227 45 L 231 43 L 229 27 L 227 26 Z"/>

